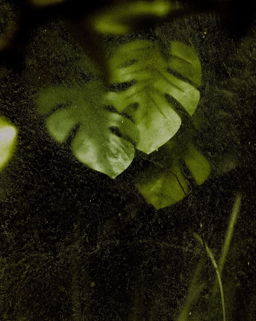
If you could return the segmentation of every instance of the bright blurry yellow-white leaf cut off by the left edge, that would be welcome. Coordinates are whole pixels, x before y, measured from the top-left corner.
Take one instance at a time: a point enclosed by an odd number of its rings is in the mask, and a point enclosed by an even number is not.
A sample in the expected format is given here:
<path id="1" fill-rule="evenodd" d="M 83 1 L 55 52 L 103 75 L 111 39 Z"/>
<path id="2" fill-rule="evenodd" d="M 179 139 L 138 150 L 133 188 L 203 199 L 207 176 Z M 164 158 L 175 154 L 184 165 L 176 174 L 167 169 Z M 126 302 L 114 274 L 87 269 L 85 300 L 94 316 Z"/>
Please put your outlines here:
<path id="1" fill-rule="evenodd" d="M 14 151 L 18 130 L 4 117 L 0 117 L 0 170 L 10 160 Z"/>

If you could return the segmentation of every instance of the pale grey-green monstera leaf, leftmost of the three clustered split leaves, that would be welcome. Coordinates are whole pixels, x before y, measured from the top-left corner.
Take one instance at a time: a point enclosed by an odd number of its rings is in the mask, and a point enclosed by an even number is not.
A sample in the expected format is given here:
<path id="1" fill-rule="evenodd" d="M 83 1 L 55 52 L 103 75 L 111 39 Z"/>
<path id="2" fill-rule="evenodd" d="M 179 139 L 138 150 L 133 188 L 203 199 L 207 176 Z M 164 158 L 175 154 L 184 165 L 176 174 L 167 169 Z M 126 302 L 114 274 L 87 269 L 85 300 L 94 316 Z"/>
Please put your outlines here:
<path id="1" fill-rule="evenodd" d="M 46 119 L 48 131 L 59 143 L 79 124 L 71 149 L 87 166 L 115 178 L 132 162 L 137 128 L 131 120 L 108 111 L 101 82 L 46 89 L 39 94 L 37 104 L 42 114 L 60 107 Z"/>

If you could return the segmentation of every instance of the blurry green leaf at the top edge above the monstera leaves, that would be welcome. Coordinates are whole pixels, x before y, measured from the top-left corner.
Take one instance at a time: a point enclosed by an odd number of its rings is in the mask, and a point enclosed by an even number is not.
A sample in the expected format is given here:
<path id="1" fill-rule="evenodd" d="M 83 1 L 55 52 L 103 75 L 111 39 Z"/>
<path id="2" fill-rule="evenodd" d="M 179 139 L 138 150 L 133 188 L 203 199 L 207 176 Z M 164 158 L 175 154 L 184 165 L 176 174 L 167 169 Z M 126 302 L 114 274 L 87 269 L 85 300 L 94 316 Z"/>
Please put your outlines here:
<path id="1" fill-rule="evenodd" d="M 122 35 L 134 30 L 145 18 L 164 18 L 176 6 L 170 1 L 132 1 L 111 6 L 95 13 L 91 18 L 92 28 L 99 33 Z"/>

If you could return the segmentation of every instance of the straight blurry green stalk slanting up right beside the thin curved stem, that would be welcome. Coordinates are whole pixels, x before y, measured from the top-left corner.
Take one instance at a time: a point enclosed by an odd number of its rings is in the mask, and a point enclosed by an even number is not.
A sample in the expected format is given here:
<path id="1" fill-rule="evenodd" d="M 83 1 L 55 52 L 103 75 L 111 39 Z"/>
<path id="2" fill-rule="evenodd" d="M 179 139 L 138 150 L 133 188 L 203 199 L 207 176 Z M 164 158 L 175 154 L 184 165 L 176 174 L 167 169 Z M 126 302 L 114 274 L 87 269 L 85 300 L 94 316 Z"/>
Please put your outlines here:
<path id="1" fill-rule="evenodd" d="M 237 194 L 236 195 L 236 199 L 235 199 L 235 203 L 234 203 L 234 206 L 233 206 L 233 210 L 232 210 L 232 213 L 231 213 L 231 216 L 230 216 L 228 229 L 227 229 L 227 232 L 226 232 L 226 237 L 225 237 L 225 240 L 224 240 L 224 243 L 223 243 L 223 246 L 222 246 L 222 251 L 221 251 L 221 256 L 220 256 L 220 261 L 219 261 L 219 273 L 220 273 L 220 276 L 221 276 L 221 273 L 222 273 L 222 270 L 223 270 L 223 267 L 224 267 L 224 263 L 225 263 L 225 260 L 226 260 L 226 257 L 227 257 L 227 253 L 228 253 L 228 249 L 229 249 L 229 246 L 230 246 L 230 241 L 231 241 L 232 234 L 233 234 L 233 231 L 234 231 L 234 226 L 235 226 L 235 223 L 236 223 L 236 217 L 237 217 L 240 205 L 241 205 L 241 194 Z M 214 283 L 214 287 L 213 287 L 213 290 L 212 290 L 212 299 L 215 298 L 217 291 L 218 291 L 218 278 L 216 278 L 216 281 Z"/>

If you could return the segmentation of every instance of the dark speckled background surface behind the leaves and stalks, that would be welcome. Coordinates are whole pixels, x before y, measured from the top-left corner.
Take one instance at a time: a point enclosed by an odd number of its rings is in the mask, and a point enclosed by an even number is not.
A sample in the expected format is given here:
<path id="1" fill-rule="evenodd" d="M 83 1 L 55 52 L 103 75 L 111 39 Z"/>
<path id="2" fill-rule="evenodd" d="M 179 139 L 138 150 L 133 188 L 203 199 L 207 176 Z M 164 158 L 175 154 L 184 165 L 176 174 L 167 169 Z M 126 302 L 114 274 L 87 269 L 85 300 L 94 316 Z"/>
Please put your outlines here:
<path id="1" fill-rule="evenodd" d="M 67 3 L 69 11 L 42 10 L 32 21 L 29 6 L 0 2 L 1 31 L 21 16 L 19 35 L 0 53 L 0 110 L 19 128 L 16 152 L 0 173 L 0 319 L 176 320 L 204 258 L 205 286 L 192 316 L 222 320 L 220 295 L 214 313 L 208 312 L 216 274 L 193 233 L 203 233 L 218 260 L 241 193 L 222 282 L 227 320 L 254 320 L 253 8 L 246 1 L 238 7 L 232 1 L 190 1 L 184 8 L 191 16 L 180 13 L 169 22 L 142 23 L 130 35 L 102 39 L 109 52 L 130 39 L 152 39 L 163 50 L 170 40 L 182 41 L 195 46 L 202 64 L 198 110 L 207 121 L 193 140 L 212 174 L 194 186 L 189 199 L 156 211 L 133 183 L 148 166 L 140 152 L 116 179 L 108 178 L 75 159 L 69 147 L 74 133 L 62 145 L 55 143 L 36 112 L 42 88 L 93 77 L 77 67 L 85 54 L 68 19 L 76 21 L 81 9 L 76 1 Z"/>

